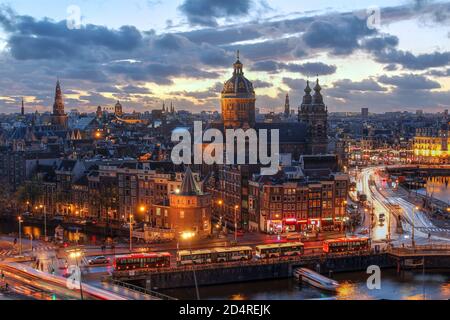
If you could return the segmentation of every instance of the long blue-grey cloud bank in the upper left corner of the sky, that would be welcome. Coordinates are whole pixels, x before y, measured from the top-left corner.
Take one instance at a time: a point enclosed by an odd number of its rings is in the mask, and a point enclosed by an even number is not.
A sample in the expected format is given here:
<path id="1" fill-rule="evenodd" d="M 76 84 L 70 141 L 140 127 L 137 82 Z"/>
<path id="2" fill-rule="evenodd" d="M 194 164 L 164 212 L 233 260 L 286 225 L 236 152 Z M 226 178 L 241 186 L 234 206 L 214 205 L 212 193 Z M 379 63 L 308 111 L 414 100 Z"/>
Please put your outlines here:
<path id="1" fill-rule="evenodd" d="M 0 24 L 8 32 L 11 54 L 19 60 L 92 59 L 98 47 L 129 51 L 140 46 L 143 40 L 133 26 L 112 30 L 90 24 L 80 29 L 69 29 L 66 21 L 36 20 L 30 16 L 14 15 L 5 8 L 0 8 Z"/>

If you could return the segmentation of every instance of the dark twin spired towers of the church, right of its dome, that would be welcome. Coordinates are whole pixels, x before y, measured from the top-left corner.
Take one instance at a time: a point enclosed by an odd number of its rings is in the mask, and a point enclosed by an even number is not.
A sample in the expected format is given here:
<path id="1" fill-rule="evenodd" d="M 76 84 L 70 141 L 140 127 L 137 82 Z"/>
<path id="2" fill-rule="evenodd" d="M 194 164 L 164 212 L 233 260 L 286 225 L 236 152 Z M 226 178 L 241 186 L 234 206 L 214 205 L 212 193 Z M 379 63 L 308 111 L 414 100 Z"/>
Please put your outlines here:
<path id="1" fill-rule="evenodd" d="M 328 152 L 328 109 L 323 102 L 322 87 L 317 79 L 314 95 L 307 81 L 305 95 L 300 107 L 299 121 L 308 126 L 308 153 Z"/>

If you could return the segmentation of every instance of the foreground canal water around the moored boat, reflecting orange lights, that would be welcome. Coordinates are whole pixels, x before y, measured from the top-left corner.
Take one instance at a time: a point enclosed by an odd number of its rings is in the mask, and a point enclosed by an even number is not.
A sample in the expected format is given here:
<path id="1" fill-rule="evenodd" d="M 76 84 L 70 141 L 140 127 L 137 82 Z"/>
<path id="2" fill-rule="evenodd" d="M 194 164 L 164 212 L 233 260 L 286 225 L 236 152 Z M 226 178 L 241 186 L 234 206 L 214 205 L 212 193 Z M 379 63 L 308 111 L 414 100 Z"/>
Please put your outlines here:
<path id="1" fill-rule="evenodd" d="M 383 270 L 381 289 L 367 288 L 368 275 L 360 273 L 335 274 L 341 284 L 337 294 L 327 293 L 295 279 L 259 281 L 201 287 L 204 300 L 448 300 L 450 299 L 450 271 L 403 272 Z M 196 299 L 194 288 L 165 290 L 164 293 L 179 299 Z"/>

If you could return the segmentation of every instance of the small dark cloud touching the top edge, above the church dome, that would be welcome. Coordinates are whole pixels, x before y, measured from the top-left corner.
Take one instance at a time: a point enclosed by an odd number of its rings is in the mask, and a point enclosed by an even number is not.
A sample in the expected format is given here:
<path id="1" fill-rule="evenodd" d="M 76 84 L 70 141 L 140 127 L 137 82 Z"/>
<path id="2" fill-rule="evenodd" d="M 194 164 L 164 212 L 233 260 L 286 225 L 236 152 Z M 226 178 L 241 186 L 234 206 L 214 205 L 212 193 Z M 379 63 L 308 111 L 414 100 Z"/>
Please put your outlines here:
<path id="1" fill-rule="evenodd" d="M 246 16 L 250 0 L 185 0 L 179 7 L 191 25 L 216 27 L 218 18 Z"/>

